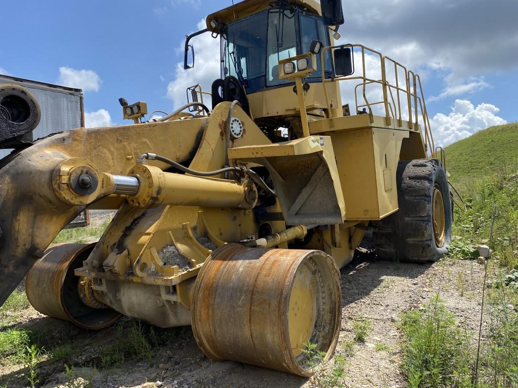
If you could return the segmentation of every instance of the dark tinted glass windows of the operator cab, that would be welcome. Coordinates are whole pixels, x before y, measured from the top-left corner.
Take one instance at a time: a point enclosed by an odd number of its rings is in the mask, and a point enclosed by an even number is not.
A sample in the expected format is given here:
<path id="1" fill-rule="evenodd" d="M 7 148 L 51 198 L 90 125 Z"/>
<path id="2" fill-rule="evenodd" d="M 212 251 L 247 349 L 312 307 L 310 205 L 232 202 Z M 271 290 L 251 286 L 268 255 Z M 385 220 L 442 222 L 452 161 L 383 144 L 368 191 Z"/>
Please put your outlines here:
<path id="1" fill-rule="evenodd" d="M 223 28 L 221 34 L 221 75 L 236 77 L 248 94 L 293 83 L 279 80 L 279 61 L 309 51 L 313 40 L 329 45 L 329 34 L 322 19 L 296 7 L 275 7 L 239 20 Z M 326 52 L 325 71 L 332 72 Z M 306 78 L 317 82 L 318 69 Z"/>

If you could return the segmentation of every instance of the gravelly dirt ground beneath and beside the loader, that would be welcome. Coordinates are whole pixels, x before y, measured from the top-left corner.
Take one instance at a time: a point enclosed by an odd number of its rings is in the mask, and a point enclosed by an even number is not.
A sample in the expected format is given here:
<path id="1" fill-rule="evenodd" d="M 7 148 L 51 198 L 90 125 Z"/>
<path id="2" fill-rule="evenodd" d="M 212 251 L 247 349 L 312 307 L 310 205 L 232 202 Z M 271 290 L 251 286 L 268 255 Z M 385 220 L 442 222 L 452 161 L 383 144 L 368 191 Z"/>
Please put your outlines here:
<path id="1" fill-rule="evenodd" d="M 458 273 L 462 276 L 458 276 Z M 468 330 L 478 326 L 483 266 L 472 261 L 446 261 L 433 265 L 378 261 L 367 249 L 341 271 L 342 328 L 337 353 L 347 356 L 347 386 L 404 387 L 400 371 L 397 315 L 419 308 L 440 289 L 441 299 Z M 459 280 L 459 279 L 462 279 Z M 461 296 L 461 293 L 463 296 Z M 351 322 L 367 318 L 372 332 L 364 343 L 352 342 Z M 234 362 L 212 362 L 199 351 L 190 327 L 158 331 L 164 345 L 156 349 L 150 362 L 126 362 L 123 367 L 104 370 L 81 368 L 95 360 L 95 349 L 110 339 L 110 330 L 92 333 L 68 322 L 27 310 L 19 324 L 61 343 L 74 339 L 82 355 L 73 360 L 78 376 L 85 376 L 95 387 L 312 387 L 313 381 L 282 372 Z M 376 349 L 383 344 L 385 349 Z M 379 347 L 378 347 L 379 348 Z M 9 387 L 24 386 L 18 380 L 20 367 L 1 367 Z M 63 370 L 41 366 L 41 383 L 55 387 L 65 382 Z M 18 383 L 17 383 L 18 380 Z"/>

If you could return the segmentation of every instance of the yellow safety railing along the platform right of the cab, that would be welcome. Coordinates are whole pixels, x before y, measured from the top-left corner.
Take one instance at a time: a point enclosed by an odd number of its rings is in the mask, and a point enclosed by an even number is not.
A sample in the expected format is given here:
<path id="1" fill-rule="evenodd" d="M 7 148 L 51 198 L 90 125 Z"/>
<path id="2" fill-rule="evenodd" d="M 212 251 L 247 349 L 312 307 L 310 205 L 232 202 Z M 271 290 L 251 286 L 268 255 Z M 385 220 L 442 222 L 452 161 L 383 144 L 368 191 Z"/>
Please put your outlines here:
<path id="1" fill-rule="evenodd" d="M 404 127 L 404 121 L 408 121 L 408 129 L 413 131 L 419 130 L 421 122 L 426 150 L 429 150 L 431 155 L 436 157 L 437 155 L 434 137 L 430 129 L 430 121 L 428 118 L 428 112 L 426 110 L 426 103 L 419 74 L 414 73 L 412 70 L 408 70 L 399 62 L 388 56 L 384 56 L 379 51 L 363 46 L 363 44 L 344 44 L 341 46 L 325 47 L 320 53 L 321 63 L 325 63 L 324 55 L 326 52 L 329 52 L 329 55 L 334 58 L 334 50 L 342 48 L 351 49 L 351 57 L 353 62 L 354 55 L 357 55 L 358 53 L 361 54 L 362 74 L 355 74 L 359 67 L 356 66 L 356 64 L 353 64 L 354 72 L 350 76 L 334 76 L 332 78 L 326 78 L 326 74 L 323 72 L 322 84 L 324 85 L 324 95 L 327 103 L 328 118 L 333 118 L 333 113 L 330 106 L 330 100 L 328 98 L 326 84 L 329 82 L 358 80 L 360 82 L 357 83 L 353 88 L 356 112 L 363 113 L 360 111 L 360 109 L 364 108 L 365 113 L 369 114 L 370 121 L 373 123 L 373 108 L 381 106 L 381 111 L 383 112 L 382 114 L 385 117 L 387 126 L 391 126 L 392 122 L 395 121 L 398 127 Z M 376 61 L 379 61 L 379 66 L 377 67 L 377 69 L 379 69 L 379 73 L 375 74 L 375 76 L 367 74 L 367 56 L 376 58 Z M 371 58 L 368 59 L 369 61 L 371 60 Z M 387 71 L 388 69 L 390 69 L 390 72 Z M 387 74 L 389 76 L 388 78 Z M 368 94 L 369 86 L 376 85 L 381 87 L 382 93 L 379 97 L 373 97 L 372 94 Z M 358 91 L 361 97 L 360 100 L 358 100 Z"/>

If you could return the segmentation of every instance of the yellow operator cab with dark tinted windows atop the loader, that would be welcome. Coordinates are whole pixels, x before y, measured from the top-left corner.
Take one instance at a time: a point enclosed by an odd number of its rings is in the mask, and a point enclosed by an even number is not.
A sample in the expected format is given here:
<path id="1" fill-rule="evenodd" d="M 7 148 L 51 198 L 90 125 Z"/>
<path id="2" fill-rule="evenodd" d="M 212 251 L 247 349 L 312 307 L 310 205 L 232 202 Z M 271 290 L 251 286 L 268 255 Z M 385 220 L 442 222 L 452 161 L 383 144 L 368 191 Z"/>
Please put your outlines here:
<path id="1" fill-rule="evenodd" d="M 341 5 L 338 13 L 343 18 Z M 310 52 L 314 41 L 323 47 L 332 46 L 332 34 L 340 23 L 343 21 L 330 24 L 326 12 L 323 18 L 321 4 L 316 0 L 244 0 L 210 14 L 207 29 L 187 38 L 184 68 L 194 66 L 194 49 L 189 43 L 192 37 L 205 32 L 219 37 L 221 78 L 212 84 L 212 107 L 223 101 L 239 101 L 270 140 L 275 141 L 272 133 L 279 128 L 300 127 L 295 80 L 280 77 L 279 62 Z M 331 52 L 324 50 L 323 58 L 316 55 L 315 70 L 304 77 L 310 121 L 324 116 L 328 102 L 335 116 L 341 115 L 338 83 L 327 83 L 325 91 L 322 84 L 322 77 L 333 79 L 333 66 Z"/>

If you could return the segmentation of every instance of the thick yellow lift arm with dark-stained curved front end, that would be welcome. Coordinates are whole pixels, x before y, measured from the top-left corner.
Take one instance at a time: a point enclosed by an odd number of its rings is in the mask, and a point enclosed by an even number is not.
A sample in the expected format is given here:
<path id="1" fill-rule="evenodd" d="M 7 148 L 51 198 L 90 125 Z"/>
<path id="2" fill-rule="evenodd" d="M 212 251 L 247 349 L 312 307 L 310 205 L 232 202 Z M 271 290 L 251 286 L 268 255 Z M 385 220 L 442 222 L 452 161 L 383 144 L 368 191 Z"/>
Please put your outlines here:
<path id="1" fill-rule="evenodd" d="M 94 161 L 101 171 L 126 175 L 135 157 L 153 150 L 189 165 L 202 142 L 205 120 L 79 128 L 4 158 L 0 165 L 0 304 L 55 236 L 86 207 L 66 204 L 56 196 L 52 175 L 60 162 L 81 157 Z M 161 162 L 154 166 L 166 169 Z M 110 201 L 107 206 L 118 208 L 122 201 Z"/>

